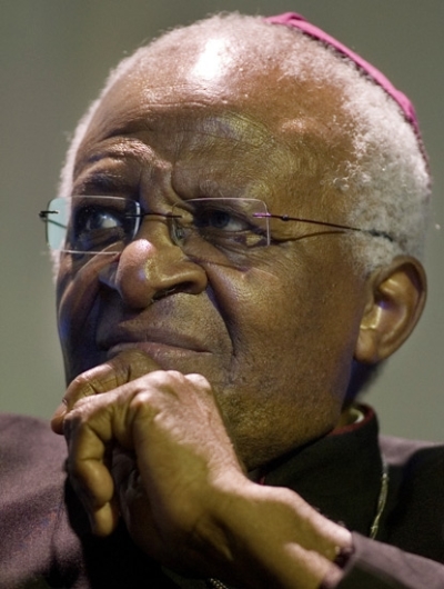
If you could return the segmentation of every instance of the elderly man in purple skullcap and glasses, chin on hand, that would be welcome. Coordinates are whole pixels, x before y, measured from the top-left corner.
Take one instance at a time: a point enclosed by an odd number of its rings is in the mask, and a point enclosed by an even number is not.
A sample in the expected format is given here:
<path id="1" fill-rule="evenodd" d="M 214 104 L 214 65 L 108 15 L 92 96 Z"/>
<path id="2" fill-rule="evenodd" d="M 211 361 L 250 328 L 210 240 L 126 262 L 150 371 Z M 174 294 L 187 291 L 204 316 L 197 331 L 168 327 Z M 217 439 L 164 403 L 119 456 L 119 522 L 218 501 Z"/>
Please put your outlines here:
<path id="1" fill-rule="evenodd" d="M 444 587 L 444 452 L 353 402 L 421 315 L 428 188 L 408 100 L 295 14 L 125 59 L 41 213 L 71 485 L 6 421 L 2 587 Z"/>

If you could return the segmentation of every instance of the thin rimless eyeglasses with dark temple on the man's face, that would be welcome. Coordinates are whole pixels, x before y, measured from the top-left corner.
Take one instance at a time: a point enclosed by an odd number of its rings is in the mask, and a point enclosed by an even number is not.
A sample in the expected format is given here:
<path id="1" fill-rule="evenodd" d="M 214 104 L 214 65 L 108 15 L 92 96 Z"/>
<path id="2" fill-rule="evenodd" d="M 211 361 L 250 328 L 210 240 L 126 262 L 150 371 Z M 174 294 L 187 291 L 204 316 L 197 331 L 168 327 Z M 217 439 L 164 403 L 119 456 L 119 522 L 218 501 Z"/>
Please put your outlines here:
<path id="1" fill-rule="evenodd" d="M 144 220 L 168 226 L 172 242 L 198 259 L 220 261 L 224 254 L 242 256 L 274 241 L 271 223 L 297 221 L 335 230 L 359 231 L 393 241 L 391 236 L 373 229 L 273 214 L 259 199 L 201 198 L 174 204 L 170 211 L 142 211 L 138 201 L 120 197 L 79 196 L 56 198 L 40 211 L 47 224 L 47 242 L 52 250 L 72 254 L 112 254 L 132 241 Z M 274 221 L 273 221 L 274 222 Z"/>

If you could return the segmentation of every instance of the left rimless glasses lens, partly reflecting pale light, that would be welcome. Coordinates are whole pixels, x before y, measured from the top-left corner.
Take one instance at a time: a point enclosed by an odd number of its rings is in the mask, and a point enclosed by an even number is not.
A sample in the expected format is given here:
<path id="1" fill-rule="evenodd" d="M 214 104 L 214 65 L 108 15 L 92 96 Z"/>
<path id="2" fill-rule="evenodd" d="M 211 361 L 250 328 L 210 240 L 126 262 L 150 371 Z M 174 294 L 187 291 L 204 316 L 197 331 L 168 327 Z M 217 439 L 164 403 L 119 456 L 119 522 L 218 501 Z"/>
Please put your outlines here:
<path id="1" fill-rule="evenodd" d="M 114 253 L 135 234 L 135 201 L 118 197 L 71 197 L 51 200 L 47 238 L 51 249 L 72 253 Z"/>

